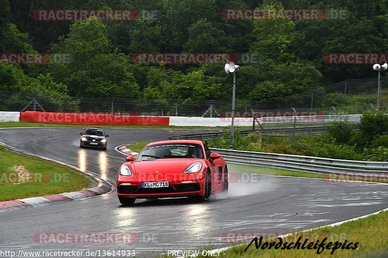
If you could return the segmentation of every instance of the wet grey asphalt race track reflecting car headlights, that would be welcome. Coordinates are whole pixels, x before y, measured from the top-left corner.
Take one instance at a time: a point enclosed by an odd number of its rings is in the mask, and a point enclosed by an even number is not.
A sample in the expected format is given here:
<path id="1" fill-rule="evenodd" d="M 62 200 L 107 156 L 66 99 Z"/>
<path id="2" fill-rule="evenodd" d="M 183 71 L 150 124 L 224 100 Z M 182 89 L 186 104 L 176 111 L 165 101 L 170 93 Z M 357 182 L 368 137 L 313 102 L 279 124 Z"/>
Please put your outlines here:
<path id="1" fill-rule="evenodd" d="M 80 131 L 58 127 L 0 129 L 0 141 L 114 182 L 125 159 L 114 150 L 115 146 L 201 132 L 108 128 L 109 146 L 104 152 L 80 149 Z M 236 175 L 239 182 L 230 182 L 228 196 L 218 195 L 208 202 L 186 198 L 138 200 L 128 208 L 120 205 L 113 192 L 88 200 L 0 212 L 0 250 L 135 250 L 137 257 L 152 257 L 169 249 L 228 246 L 230 243 L 222 239 L 227 232 L 283 233 L 332 224 L 388 207 L 388 187 L 382 184 Z M 126 232 L 135 233 L 138 241 L 38 244 L 33 236 L 39 232 Z"/>

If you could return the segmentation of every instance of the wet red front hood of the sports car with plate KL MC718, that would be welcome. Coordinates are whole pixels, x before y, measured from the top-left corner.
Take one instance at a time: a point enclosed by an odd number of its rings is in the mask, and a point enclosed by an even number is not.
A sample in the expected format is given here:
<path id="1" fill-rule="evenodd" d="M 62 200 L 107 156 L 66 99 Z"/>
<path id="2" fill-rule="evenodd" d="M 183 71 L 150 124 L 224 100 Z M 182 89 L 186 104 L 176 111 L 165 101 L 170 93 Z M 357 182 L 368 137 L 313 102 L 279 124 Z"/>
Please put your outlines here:
<path id="1" fill-rule="evenodd" d="M 133 172 L 138 175 L 150 174 L 174 174 L 183 172 L 194 162 L 200 162 L 198 159 L 157 159 L 132 162 Z M 201 162 L 202 163 L 202 162 Z M 158 171 L 158 172 L 156 172 Z"/>

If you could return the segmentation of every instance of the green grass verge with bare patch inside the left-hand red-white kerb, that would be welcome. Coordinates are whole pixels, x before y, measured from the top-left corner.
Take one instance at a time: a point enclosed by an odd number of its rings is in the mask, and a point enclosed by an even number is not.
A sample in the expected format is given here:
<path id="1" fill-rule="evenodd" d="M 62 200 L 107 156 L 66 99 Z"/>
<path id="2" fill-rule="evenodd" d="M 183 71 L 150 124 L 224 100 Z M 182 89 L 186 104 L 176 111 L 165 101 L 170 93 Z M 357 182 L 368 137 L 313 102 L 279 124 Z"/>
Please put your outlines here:
<path id="1" fill-rule="evenodd" d="M 18 175 L 16 166 L 24 172 Z M 73 192 L 94 184 L 75 169 L 0 146 L 0 201 Z"/>

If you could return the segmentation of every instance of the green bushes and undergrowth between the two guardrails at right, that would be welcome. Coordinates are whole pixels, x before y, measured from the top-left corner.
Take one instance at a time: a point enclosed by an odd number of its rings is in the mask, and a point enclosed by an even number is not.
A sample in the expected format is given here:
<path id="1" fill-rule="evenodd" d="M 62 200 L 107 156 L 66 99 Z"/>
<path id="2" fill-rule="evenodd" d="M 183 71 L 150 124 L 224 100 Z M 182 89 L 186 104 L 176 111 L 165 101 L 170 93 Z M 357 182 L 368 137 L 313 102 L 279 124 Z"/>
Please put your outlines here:
<path id="1" fill-rule="evenodd" d="M 333 159 L 388 161 L 388 116 L 366 113 L 361 118 L 359 131 L 345 122 L 334 122 L 327 134 L 291 137 L 251 134 L 241 137 L 236 132 L 234 149 L 253 152 L 317 156 Z M 212 148 L 229 149 L 230 134 L 208 140 Z"/>

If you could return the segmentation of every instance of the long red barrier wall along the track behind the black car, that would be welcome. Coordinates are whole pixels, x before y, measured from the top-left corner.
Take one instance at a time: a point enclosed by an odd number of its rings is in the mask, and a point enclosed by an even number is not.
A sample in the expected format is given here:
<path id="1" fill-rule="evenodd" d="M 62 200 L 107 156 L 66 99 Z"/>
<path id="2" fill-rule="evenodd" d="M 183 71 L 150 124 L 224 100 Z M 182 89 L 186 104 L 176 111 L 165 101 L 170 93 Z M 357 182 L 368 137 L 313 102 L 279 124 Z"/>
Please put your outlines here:
<path id="1" fill-rule="evenodd" d="M 110 114 L 78 114 L 26 111 L 20 112 L 21 122 L 99 124 L 99 125 L 168 125 L 169 117 L 112 116 Z"/>

